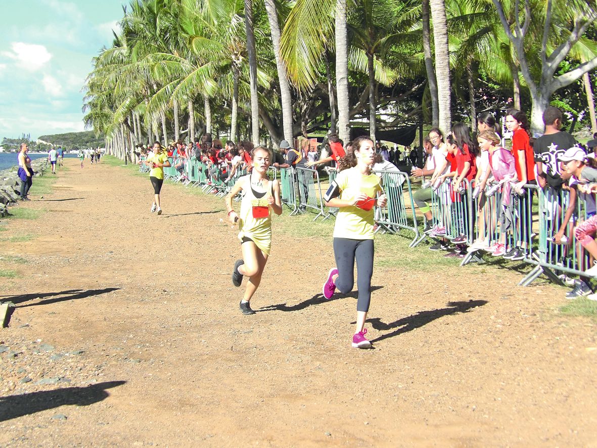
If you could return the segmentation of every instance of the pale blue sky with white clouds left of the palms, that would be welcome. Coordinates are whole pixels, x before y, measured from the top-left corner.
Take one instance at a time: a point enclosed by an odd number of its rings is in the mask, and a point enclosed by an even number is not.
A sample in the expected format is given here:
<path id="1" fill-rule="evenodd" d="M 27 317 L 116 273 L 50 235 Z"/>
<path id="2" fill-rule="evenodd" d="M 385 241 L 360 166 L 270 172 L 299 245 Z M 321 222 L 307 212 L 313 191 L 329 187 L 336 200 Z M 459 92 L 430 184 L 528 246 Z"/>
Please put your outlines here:
<path id="1" fill-rule="evenodd" d="M 112 44 L 123 0 L 0 0 L 0 141 L 84 130 L 91 59 Z"/>

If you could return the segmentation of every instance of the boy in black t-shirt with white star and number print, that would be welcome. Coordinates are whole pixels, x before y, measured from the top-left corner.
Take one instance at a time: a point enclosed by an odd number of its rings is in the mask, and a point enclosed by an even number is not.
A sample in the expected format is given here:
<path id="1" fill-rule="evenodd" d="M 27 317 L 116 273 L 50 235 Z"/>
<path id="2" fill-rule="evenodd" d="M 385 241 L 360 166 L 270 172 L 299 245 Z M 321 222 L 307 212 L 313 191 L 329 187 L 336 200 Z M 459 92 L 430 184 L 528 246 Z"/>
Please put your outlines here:
<path id="1" fill-rule="evenodd" d="M 558 157 L 568 148 L 575 146 L 577 142 L 573 136 L 559 130 L 562 125 L 562 112 L 558 108 L 549 106 L 545 109 L 543 123 L 545 133 L 533 144 L 537 180 L 541 188 L 548 185 L 559 192 L 562 189 L 562 178 Z"/>

